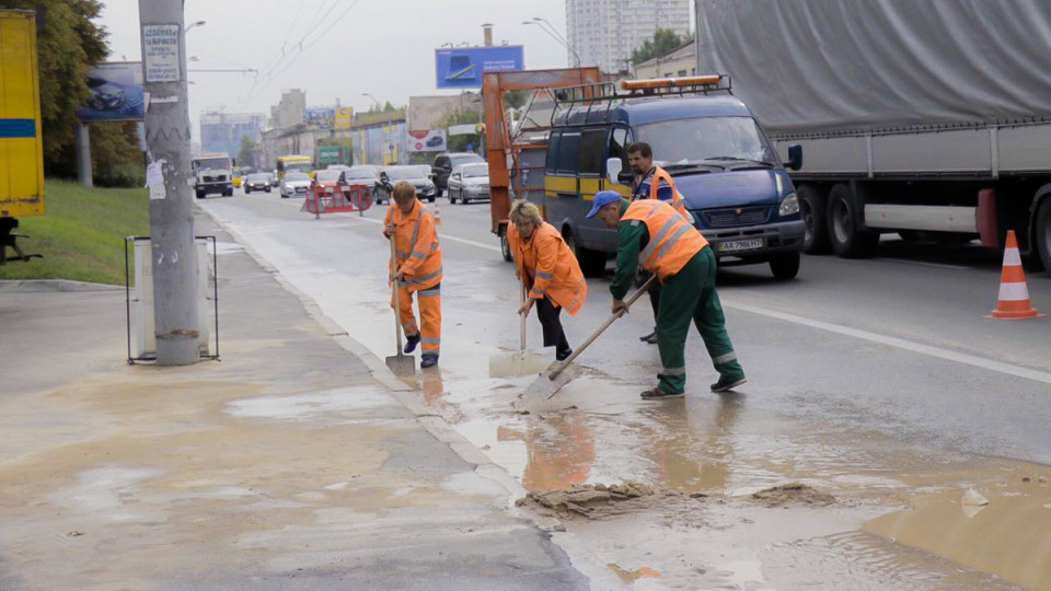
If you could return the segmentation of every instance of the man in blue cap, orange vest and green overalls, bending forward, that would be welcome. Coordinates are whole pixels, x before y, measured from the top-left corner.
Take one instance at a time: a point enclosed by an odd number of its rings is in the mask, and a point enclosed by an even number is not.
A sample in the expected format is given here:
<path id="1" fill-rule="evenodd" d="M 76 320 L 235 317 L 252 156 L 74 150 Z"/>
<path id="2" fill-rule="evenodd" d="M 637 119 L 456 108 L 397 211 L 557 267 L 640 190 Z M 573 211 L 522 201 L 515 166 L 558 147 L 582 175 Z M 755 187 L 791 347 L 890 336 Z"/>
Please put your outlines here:
<path id="1" fill-rule="evenodd" d="M 743 384 L 744 370 L 726 333 L 726 318 L 715 291 L 715 255 L 701 232 L 665 201 L 628 202 L 614 190 L 596 194 L 588 217 L 596 216 L 607 228 L 616 228 L 616 271 L 610 283 L 613 312 L 625 310 L 622 300 L 639 264 L 661 283 L 657 347 L 662 368 L 657 374 L 659 383 L 643 392 L 643 398 L 674 398 L 685 392 L 683 354 L 690 321 L 719 372 L 712 391 L 726 392 Z"/>

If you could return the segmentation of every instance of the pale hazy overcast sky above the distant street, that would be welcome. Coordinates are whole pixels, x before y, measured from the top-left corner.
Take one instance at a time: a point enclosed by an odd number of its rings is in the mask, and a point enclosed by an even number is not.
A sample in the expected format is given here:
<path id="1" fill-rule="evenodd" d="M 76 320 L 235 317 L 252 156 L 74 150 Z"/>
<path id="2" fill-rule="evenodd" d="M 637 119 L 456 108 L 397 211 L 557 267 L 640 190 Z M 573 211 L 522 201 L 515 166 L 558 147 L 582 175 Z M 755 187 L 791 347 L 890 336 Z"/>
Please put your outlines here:
<path id="1" fill-rule="evenodd" d="M 138 61 L 138 0 L 104 1 L 97 22 L 109 32 L 109 59 Z M 339 99 L 355 111 L 371 104 L 363 92 L 395 105 L 411 95 L 457 94 L 435 88 L 435 48 L 482 45 L 483 23 L 495 25 L 496 45 L 526 47 L 527 68 L 566 67 L 565 48 L 539 26 L 521 24 L 533 16 L 565 35 L 564 0 L 186 0 L 186 23 L 207 22 L 187 32 L 186 55 L 198 59 L 190 70 L 259 71 L 257 78 L 190 72 L 194 132 L 201 112 L 269 115 L 281 90 L 293 88 L 307 92 L 308 106 Z"/>

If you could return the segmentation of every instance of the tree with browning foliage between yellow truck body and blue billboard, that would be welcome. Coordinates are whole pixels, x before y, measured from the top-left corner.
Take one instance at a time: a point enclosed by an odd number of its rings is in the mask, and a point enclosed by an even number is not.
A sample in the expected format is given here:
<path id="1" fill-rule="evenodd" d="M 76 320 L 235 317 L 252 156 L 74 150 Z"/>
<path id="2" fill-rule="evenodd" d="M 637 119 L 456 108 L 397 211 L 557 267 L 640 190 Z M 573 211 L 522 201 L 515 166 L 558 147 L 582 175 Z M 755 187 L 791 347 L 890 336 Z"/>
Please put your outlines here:
<path id="1" fill-rule="evenodd" d="M 44 165 L 48 174 L 72 175 L 72 143 L 77 108 L 88 96 L 88 66 L 105 59 L 109 49 L 105 28 L 94 24 L 102 12 L 99 0 L 4 0 L 3 8 L 42 8 L 37 35 L 41 73 L 41 123 Z M 106 129 L 104 134 L 109 131 Z"/>

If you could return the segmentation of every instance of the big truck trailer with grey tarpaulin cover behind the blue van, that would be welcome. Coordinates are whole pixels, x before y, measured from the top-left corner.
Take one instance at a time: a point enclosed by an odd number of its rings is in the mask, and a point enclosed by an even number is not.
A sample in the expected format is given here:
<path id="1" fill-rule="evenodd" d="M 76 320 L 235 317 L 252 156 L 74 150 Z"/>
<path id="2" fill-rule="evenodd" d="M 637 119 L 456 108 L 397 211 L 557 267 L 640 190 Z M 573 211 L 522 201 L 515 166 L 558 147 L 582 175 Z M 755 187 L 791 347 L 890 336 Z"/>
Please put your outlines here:
<path id="1" fill-rule="evenodd" d="M 1051 270 L 1051 2 L 697 0 L 697 71 L 734 74 L 792 173 L 805 252 L 881 233 Z"/>

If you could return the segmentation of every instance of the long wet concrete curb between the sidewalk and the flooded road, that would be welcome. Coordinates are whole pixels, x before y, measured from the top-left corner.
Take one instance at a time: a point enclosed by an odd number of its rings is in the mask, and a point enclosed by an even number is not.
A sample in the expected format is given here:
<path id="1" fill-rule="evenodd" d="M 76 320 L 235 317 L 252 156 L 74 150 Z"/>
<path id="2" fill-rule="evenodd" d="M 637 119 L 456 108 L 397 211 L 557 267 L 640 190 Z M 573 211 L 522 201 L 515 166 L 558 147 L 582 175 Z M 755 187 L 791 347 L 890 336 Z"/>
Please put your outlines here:
<path id="1" fill-rule="evenodd" d="M 412 386 L 399 380 L 382 359 L 377 357 L 371 350 L 365 347 L 365 345 L 358 343 L 347 334 L 342 326 L 330 318 L 313 298 L 303 293 L 299 288 L 289 282 L 276 267 L 257 253 L 255 248 L 250 246 L 240 233 L 227 225 L 208 209 L 196 206 L 196 204 L 195 209 L 204 212 L 212 222 L 219 225 L 219 228 L 229 233 L 233 240 L 244 248 L 244 252 L 247 253 L 256 264 L 263 267 L 263 270 L 270 274 L 286 291 L 296 296 L 307 310 L 307 314 L 317 322 L 339 346 L 360 359 L 369 369 L 369 374 L 384 387 L 389 389 L 392 396 L 402 404 L 402 406 L 413 413 L 414 418 L 428 433 L 438 441 L 449 445 L 453 453 L 460 456 L 461 460 L 474 465 L 474 472 L 478 476 L 500 485 L 507 491 L 508 499 L 508 502 L 504 505 L 503 508 L 509 514 L 527 520 L 540 531 L 547 533 L 551 541 L 566 553 L 566 556 L 569 558 L 569 564 L 589 579 L 591 589 L 630 589 L 605 567 L 598 556 L 580 543 L 575 535 L 565 532 L 561 522 L 516 507 L 513 499 L 524 497 L 527 491 L 513 476 L 499 464 L 489 460 L 482 450 L 474 447 L 473 443 L 460 434 L 451 425 L 446 422 L 443 418 L 436 415 L 432 408 L 413 395 L 415 390 Z M 568 552 L 570 549 L 573 554 Z M 582 559 L 582 561 L 574 560 L 574 558 Z"/>

